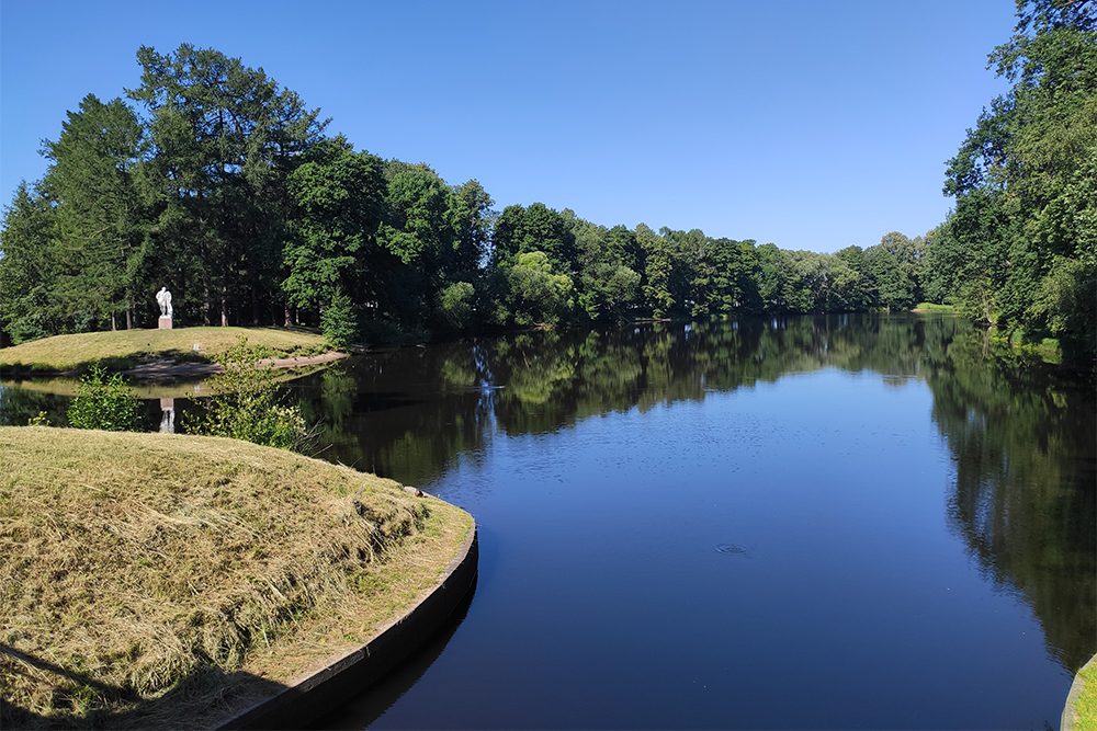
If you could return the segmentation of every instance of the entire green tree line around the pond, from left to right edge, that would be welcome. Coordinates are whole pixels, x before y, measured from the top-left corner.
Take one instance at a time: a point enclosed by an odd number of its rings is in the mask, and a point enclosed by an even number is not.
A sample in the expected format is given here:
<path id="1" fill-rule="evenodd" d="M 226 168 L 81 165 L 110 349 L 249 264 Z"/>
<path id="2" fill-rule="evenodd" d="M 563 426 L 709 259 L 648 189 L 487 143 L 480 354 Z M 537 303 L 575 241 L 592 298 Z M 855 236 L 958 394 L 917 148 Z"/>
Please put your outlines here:
<path id="1" fill-rule="evenodd" d="M 541 203 L 497 212 L 475 180 L 451 185 L 327 135 L 319 110 L 262 69 L 190 45 L 142 47 L 140 84 L 84 98 L 44 141 L 45 176 L 7 207 L 0 327 L 15 343 L 150 327 L 167 286 L 184 324 L 319 325 L 340 344 L 927 300 L 1085 340 L 1097 249 L 1090 0 L 1018 12 L 1017 35 L 992 54 L 1014 90 L 949 167 L 955 210 L 925 236 L 833 254 L 608 228 Z"/>

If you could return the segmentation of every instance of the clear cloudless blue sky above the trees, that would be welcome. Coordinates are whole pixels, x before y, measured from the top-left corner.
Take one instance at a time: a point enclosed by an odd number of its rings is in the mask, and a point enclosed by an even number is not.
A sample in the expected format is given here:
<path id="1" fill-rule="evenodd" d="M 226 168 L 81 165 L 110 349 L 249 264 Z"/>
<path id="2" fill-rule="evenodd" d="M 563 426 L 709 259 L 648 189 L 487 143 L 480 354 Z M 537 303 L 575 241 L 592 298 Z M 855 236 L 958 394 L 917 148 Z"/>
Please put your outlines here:
<path id="1" fill-rule="evenodd" d="M 499 210 L 870 247 L 945 218 L 1014 23 L 1013 0 L 0 0 L 0 202 L 66 111 L 139 85 L 139 46 L 191 43 Z"/>

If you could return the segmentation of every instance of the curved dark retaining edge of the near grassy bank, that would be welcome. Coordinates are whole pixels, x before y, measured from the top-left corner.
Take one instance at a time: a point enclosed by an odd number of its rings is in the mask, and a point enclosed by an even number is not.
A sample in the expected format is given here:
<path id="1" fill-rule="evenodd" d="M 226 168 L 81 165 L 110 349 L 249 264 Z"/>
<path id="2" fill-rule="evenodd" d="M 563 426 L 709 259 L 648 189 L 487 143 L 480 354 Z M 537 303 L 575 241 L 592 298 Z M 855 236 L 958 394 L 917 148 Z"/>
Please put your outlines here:
<path id="1" fill-rule="evenodd" d="M 299 729 L 337 704 L 374 685 L 422 647 L 465 598 L 476 581 L 479 547 L 475 524 L 438 584 L 416 606 L 364 646 L 224 722 L 218 730 Z"/>

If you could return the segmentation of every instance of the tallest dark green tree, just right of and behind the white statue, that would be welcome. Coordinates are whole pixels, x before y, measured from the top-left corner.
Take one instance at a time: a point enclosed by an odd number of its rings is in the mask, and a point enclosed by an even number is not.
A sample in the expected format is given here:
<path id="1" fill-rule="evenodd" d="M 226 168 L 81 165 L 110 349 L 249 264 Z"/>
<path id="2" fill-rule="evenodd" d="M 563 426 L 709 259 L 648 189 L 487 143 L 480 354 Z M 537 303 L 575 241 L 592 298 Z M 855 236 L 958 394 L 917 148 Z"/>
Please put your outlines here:
<path id="1" fill-rule="evenodd" d="M 142 85 L 128 94 L 150 116 L 157 251 L 179 279 L 170 283 L 183 299 L 177 309 L 227 323 L 233 300 L 250 295 L 258 321 L 263 279 L 274 278 L 262 269 L 282 261 L 286 176 L 327 123 L 262 69 L 216 50 L 143 47 L 137 58 Z"/>

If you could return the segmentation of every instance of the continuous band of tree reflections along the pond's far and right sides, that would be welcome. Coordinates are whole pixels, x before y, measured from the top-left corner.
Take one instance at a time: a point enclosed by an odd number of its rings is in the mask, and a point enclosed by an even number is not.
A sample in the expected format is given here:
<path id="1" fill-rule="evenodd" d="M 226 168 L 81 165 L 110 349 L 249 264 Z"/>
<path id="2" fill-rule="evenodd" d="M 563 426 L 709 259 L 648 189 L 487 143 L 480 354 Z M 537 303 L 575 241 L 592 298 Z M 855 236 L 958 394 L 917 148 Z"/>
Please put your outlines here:
<path id="1" fill-rule="evenodd" d="M 659 322 L 400 349 L 312 377 L 305 407 L 323 418 L 325 457 L 427 486 L 496 429 L 552 433 L 826 367 L 926 381 L 955 464 L 951 526 L 1031 604 L 1052 654 L 1079 666 L 1097 632 L 1092 378 L 995 353 L 954 318 Z"/>

